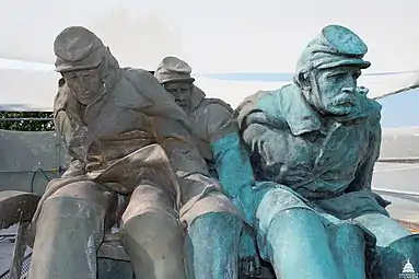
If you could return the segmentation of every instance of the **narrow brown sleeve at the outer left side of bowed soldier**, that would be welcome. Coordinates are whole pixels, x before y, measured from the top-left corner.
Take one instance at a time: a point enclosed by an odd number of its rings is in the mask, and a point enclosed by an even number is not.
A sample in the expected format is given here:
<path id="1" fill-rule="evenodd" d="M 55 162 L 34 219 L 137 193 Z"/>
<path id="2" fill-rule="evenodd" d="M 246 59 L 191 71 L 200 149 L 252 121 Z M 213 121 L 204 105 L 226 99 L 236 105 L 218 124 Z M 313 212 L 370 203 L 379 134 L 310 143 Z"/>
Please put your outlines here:
<path id="1" fill-rule="evenodd" d="M 66 103 L 68 100 L 68 90 L 65 82 L 59 82 L 59 90 L 54 100 L 54 123 L 57 131 L 57 136 L 60 137 L 63 142 L 67 152 L 71 156 L 69 167 L 62 174 L 61 177 L 78 176 L 84 173 L 84 163 L 78 153 L 71 148 L 70 141 L 73 136 L 73 127 L 66 113 Z"/>

